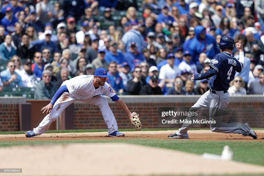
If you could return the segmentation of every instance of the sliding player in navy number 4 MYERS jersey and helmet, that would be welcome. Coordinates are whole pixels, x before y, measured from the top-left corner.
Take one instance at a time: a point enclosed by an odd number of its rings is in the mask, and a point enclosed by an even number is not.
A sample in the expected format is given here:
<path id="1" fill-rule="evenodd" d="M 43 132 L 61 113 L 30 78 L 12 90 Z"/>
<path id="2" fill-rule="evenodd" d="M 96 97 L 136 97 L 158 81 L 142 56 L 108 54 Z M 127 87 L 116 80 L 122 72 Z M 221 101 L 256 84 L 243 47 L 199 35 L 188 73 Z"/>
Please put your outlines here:
<path id="1" fill-rule="evenodd" d="M 190 108 L 189 111 L 195 108 L 209 107 L 209 119 L 215 120 L 216 123 L 210 124 L 210 129 L 213 132 L 221 133 L 237 133 L 244 136 L 251 136 L 257 139 L 256 133 L 251 129 L 248 123 L 223 123 L 223 112 L 228 106 L 230 98 L 228 96 L 229 83 L 234 79 L 235 73 L 241 72 L 244 68 L 244 53 L 243 45 L 235 44 L 235 40 L 229 36 L 223 36 L 218 43 L 221 53 L 217 54 L 210 63 L 210 69 L 203 74 L 194 74 L 191 79 L 202 80 L 208 79 L 210 90 L 205 92 L 199 100 Z M 232 50 L 235 45 L 239 52 L 239 61 L 235 59 Z M 195 117 L 194 117 L 195 118 Z M 188 117 L 187 117 L 188 119 Z M 170 139 L 188 139 L 188 129 L 190 125 L 183 124 L 175 134 L 169 135 Z"/>

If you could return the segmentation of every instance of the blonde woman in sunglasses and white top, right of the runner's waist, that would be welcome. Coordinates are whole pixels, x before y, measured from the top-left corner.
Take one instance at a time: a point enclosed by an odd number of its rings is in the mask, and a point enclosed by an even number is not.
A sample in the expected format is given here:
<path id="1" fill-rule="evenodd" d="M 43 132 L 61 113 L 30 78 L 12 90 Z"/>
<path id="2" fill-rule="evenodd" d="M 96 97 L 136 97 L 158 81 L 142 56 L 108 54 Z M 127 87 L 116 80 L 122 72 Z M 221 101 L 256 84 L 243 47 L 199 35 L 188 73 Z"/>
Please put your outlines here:
<path id="1" fill-rule="evenodd" d="M 241 76 L 235 76 L 234 80 L 230 82 L 228 94 L 229 95 L 246 95 L 247 91 L 244 87 L 245 87 L 245 82 L 241 78 Z"/>

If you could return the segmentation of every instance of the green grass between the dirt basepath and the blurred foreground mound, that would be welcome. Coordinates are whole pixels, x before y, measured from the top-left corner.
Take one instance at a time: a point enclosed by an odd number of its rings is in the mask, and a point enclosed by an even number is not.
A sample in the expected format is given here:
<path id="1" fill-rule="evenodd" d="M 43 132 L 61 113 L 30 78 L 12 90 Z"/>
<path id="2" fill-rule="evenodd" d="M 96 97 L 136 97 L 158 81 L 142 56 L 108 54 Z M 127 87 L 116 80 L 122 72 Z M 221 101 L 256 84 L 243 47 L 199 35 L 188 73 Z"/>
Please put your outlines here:
<path id="1" fill-rule="evenodd" d="M 0 147 L 13 145 L 46 145 L 46 144 L 70 144 L 70 143 L 106 143 L 124 142 L 139 144 L 172 150 L 180 150 L 195 154 L 213 153 L 221 155 L 225 145 L 229 145 L 234 153 L 235 161 L 264 166 L 264 143 L 248 141 L 198 141 L 198 140 L 167 140 L 167 139 L 114 139 L 114 140 L 56 140 L 56 141 L 0 141 Z"/>

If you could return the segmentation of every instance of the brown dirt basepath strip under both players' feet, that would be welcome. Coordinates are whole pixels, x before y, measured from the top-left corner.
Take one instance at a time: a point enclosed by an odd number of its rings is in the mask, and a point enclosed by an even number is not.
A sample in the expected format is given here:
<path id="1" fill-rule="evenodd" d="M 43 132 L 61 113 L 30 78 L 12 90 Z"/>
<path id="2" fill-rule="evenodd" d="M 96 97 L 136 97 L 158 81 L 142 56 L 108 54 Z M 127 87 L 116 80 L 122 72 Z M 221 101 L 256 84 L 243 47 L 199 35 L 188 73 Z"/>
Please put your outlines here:
<path id="1" fill-rule="evenodd" d="M 125 137 L 120 139 L 147 138 L 147 139 L 168 139 L 167 136 L 175 133 L 175 130 L 168 131 L 126 131 Z M 210 130 L 190 130 L 190 139 L 187 140 L 230 140 L 230 141 L 264 141 L 264 130 L 256 130 L 258 139 L 240 134 L 216 133 Z M 26 138 L 25 135 L 0 135 L 0 141 L 39 141 L 39 140 L 112 140 L 116 137 L 107 137 L 107 132 L 87 133 L 44 133 L 40 136 Z M 171 140 L 171 139 L 168 139 Z M 182 139 L 186 140 L 186 139 Z"/>

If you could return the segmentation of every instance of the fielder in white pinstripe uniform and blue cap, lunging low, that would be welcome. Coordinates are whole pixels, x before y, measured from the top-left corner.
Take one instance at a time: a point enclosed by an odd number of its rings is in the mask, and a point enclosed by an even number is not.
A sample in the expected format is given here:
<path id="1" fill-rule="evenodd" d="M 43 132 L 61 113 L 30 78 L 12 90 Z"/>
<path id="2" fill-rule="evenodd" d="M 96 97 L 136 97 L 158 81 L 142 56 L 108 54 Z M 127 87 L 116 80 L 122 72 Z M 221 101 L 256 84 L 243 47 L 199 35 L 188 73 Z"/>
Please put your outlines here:
<path id="1" fill-rule="evenodd" d="M 130 116 L 131 112 L 122 99 L 116 95 L 112 87 L 106 83 L 107 77 L 110 76 L 107 75 L 106 69 L 100 67 L 95 70 L 95 75 L 80 75 L 64 81 L 55 93 L 52 101 L 41 109 L 47 115 L 40 122 L 39 126 L 26 132 L 26 137 L 33 137 L 46 132 L 50 124 L 59 117 L 60 113 L 76 101 L 94 104 L 100 108 L 108 127 L 108 136 L 125 136 L 125 134 L 118 131 L 115 116 L 102 94 L 115 101 L 128 116 Z"/>

